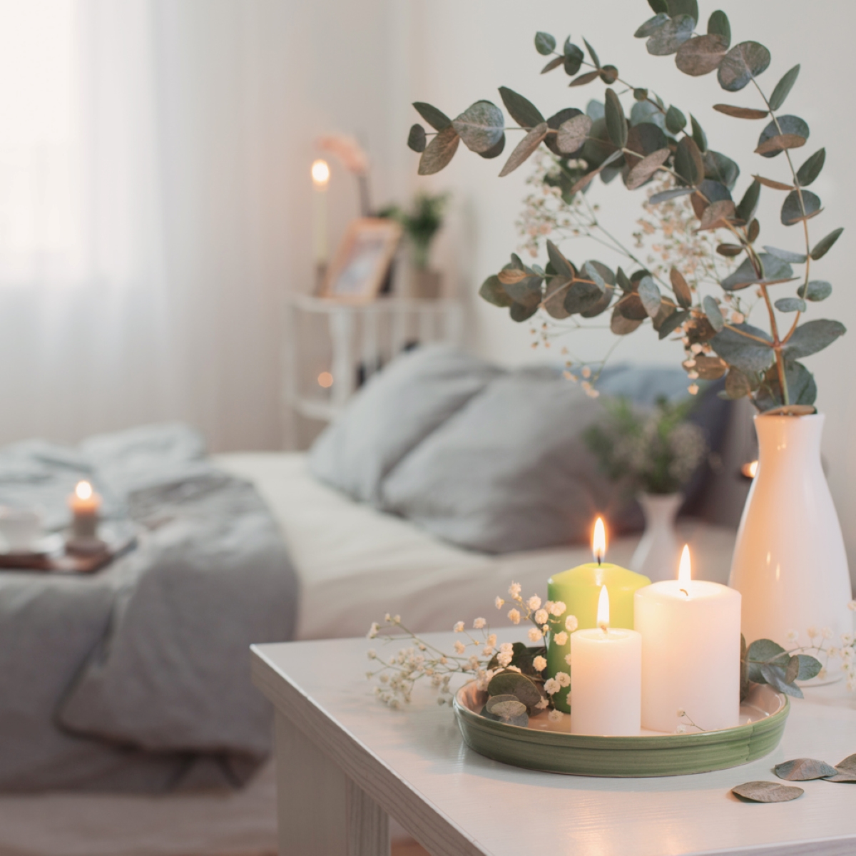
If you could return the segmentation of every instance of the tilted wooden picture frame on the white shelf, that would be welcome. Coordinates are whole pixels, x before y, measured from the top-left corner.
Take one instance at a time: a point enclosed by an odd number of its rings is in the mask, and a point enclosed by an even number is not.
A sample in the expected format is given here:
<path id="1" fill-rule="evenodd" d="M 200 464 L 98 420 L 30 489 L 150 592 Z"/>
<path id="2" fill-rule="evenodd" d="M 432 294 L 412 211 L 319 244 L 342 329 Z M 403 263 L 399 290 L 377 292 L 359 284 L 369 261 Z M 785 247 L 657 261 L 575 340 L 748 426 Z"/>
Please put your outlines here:
<path id="1" fill-rule="evenodd" d="M 374 300 L 400 240 L 401 225 L 395 220 L 360 217 L 349 223 L 320 296 L 354 302 Z"/>

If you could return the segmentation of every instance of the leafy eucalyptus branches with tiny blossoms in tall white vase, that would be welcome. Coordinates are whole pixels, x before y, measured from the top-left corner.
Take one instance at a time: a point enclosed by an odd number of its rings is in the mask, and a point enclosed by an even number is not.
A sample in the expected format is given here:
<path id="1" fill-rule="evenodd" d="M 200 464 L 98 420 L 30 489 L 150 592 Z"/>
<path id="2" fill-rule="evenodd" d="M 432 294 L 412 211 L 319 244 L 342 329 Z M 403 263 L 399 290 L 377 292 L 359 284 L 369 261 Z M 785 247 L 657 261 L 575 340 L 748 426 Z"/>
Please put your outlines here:
<path id="1" fill-rule="evenodd" d="M 815 278 L 816 263 L 842 230 L 817 231 L 814 218 L 822 203 L 808 187 L 823 169 L 825 150 L 798 161 L 796 150 L 805 146 L 809 127 L 780 112 L 800 66 L 765 90 L 758 78 L 770 65 L 770 51 L 755 41 L 732 45 L 722 11 L 713 12 L 705 27 L 697 0 L 649 4 L 654 14 L 634 33 L 645 39 L 648 52 L 675 56 L 677 68 L 693 77 L 716 73 L 729 103 L 714 109 L 735 122 L 762 123 L 751 180 L 740 181 L 738 164 L 709 144 L 696 116 L 687 121 L 688 111 L 627 82 L 585 39 L 585 50 L 570 37 L 557 47 L 549 33 L 537 33 L 535 48 L 547 58 L 542 74 L 562 68 L 572 78 L 571 92 L 596 81 L 605 92 L 603 101 L 592 99 L 585 109 L 568 105 L 545 117 L 528 98 L 500 88 L 522 134 L 500 175 L 540 152 L 534 180 L 544 202 L 527 211 L 544 226 L 534 231 L 536 255 L 539 235 L 554 240 L 546 241 L 544 266 L 526 265 L 513 254 L 480 294 L 507 307 L 517 322 L 541 312 L 545 337 L 563 319 L 584 327 L 607 312 L 616 336 L 638 329 L 653 330 L 659 339 L 674 336 L 685 348 L 691 393 L 698 392 L 698 377 L 725 377 L 722 395 L 748 396 L 759 413 L 760 462 L 730 580 L 743 596 L 744 632 L 750 639 L 784 639 L 813 624 L 849 633 L 847 556 L 820 466 L 823 415 L 814 407 L 814 377 L 800 361 L 845 332 L 835 319 L 802 322 L 810 306 L 832 291 L 829 282 Z M 749 97 L 730 103 L 731 93 L 747 86 Z M 408 145 L 421 152 L 421 175 L 443 169 L 461 140 L 483 158 L 502 153 L 508 123 L 496 104 L 477 101 L 454 119 L 431 104 L 414 106 L 433 128 L 418 124 L 410 131 Z M 781 167 L 773 175 L 776 164 Z M 597 206 L 586 199 L 598 175 L 603 181 L 620 176 L 629 191 L 648 187 L 649 226 L 640 234 L 643 242 L 657 241 L 653 262 L 604 228 Z M 782 194 L 781 221 L 798 235 L 793 249 L 759 245 L 755 214 L 762 188 Z M 556 242 L 578 235 L 609 247 L 621 266 L 572 262 Z M 749 323 L 753 313 L 764 316 L 766 329 Z"/>

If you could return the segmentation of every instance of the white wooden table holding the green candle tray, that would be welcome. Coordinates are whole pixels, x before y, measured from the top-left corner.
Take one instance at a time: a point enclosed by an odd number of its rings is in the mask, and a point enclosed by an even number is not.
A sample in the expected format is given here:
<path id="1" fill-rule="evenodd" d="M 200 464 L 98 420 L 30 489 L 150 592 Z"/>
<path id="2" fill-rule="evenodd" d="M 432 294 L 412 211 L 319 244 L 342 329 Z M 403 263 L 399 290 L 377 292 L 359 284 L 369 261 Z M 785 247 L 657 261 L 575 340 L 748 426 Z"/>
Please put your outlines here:
<path id="1" fill-rule="evenodd" d="M 448 649 L 455 639 L 429 635 Z M 752 764 L 655 779 L 556 776 L 469 750 L 428 688 L 406 710 L 384 707 L 365 678 L 370 647 L 377 639 L 253 648 L 253 681 L 276 707 L 282 856 L 386 856 L 388 815 L 436 856 L 856 853 L 856 785 L 799 782 L 799 800 L 774 805 L 728 793 L 778 781 L 771 768 L 788 758 L 837 764 L 856 752 L 856 693 L 841 684 L 794 699 L 781 746 Z"/>

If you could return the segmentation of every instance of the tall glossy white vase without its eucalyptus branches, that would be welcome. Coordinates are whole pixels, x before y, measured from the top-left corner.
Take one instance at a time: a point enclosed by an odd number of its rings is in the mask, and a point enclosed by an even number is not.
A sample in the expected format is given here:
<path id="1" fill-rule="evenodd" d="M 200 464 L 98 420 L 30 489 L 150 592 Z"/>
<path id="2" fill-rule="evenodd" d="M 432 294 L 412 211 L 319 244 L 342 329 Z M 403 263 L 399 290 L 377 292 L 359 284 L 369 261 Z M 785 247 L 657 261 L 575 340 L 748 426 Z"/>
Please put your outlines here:
<path id="1" fill-rule="evenodd" d="M 743 596 L 746 642 L 808 627 L 853 630 L 844 538 L 820 462 L 823 414 L 755 417 L 758 472 L 740 519 L 728 585 Z"/>

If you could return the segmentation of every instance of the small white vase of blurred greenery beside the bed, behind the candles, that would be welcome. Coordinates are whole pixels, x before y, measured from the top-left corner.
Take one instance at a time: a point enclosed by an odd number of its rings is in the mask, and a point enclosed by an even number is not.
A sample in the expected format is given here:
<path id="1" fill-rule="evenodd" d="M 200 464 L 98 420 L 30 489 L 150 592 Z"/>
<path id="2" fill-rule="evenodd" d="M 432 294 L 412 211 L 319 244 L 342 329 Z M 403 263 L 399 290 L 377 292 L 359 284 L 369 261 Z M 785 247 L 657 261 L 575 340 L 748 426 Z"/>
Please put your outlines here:
<path id="1" fill-rule="evenodd" d="M 694 400 L 657 401 L 652 410 L 627 399 L 606 401 L 607 419 L 583 435 L 609 479 L 627 485 L 645 514 L 645 534 L 630 567 L 651 582 L 671 580 L 681 555 L 675 517 L 690 477 L 704 459 L 704 431 L 687 422 Z"/>

